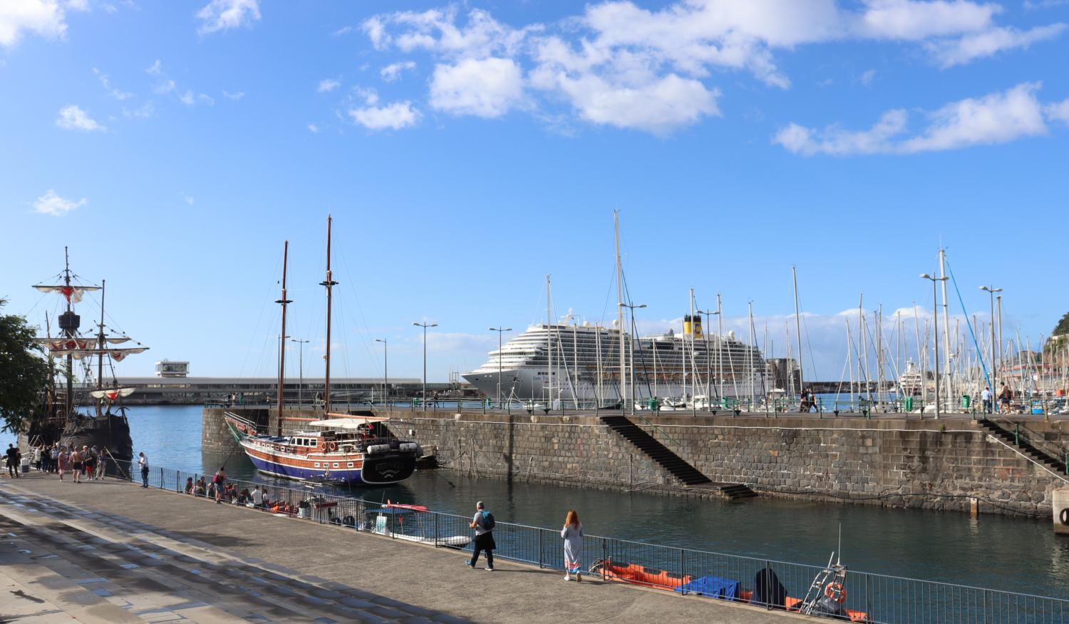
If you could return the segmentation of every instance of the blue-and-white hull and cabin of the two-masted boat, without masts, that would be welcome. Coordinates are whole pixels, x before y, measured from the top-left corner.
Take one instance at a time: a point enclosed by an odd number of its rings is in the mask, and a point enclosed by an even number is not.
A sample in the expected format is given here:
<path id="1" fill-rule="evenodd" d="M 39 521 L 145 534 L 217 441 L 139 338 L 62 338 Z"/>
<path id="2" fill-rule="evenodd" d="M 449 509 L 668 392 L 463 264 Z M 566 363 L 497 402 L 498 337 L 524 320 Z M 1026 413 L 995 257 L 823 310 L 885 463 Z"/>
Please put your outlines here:
<path id="1" fill-rule="evenodd" d="M 282 436 L 262 433 L 251 421 L 226 412 L 231 435 L 264 474 L 296 481 L 347 485 L 389 485 L 412 476 L 419 444 L 382 436 L 381 416 L 345 416 L 313 421 L 314 430 Z"/>

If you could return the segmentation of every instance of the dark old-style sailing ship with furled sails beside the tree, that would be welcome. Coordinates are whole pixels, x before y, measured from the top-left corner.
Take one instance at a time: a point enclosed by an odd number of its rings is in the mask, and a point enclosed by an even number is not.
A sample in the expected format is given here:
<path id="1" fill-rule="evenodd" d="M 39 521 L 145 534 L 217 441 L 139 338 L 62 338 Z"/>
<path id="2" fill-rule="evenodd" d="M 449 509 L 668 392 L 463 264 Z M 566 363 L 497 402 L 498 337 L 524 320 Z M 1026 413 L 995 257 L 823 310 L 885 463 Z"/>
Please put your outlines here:
<path id="1" fill-rule="evenodd" d="M 134 457 L 129 423 L 126 420 L 122 398 L 129 396 L 134 389 L 120 387 L 115 381 L 115 362 L 127 355 L 141 353 L 149 348 L 134 340 L 136 346 L 126 346 L 129 336 L 108 333 L 104 314 L 104 280 L 99 286 L 80 284 L 77 275 L 71 273 L 69 256 L 64 253 L 63 272 L 53 281 L 61 284 L 37 284 L 33 288 L 41 292 L 59 294 L 64 299 L 63 311 L 58 315 L 59 335 L 51 335 L 51 323 L 46 314 L 46 336 L 37 343 L 46 351 L 52 371 L 51 383 L 44 396 L 44 415 L 34 420 L 21 440 L 30 445 L 59 442 L 65 446 L 96 446 L 107 448 L 118 460 Z M 100 293 L 100 320 L 95 334 L 81 333 L 81 317 L 75 305 L 81 303 L 87 292 Z M 115 347 L 115 345 L 122 345 Z M 56 360 L 63 361 L 59 372 L 62 383 L 57 384 Z M 75 363 L 81 368 L 81 382 L 75 384 Z M 93 370 L 95 364 L 95 372 Z M 111 383 L 104 382 L 105 372 Z M 82 413 L 81 408 L 89 408 Z"/>

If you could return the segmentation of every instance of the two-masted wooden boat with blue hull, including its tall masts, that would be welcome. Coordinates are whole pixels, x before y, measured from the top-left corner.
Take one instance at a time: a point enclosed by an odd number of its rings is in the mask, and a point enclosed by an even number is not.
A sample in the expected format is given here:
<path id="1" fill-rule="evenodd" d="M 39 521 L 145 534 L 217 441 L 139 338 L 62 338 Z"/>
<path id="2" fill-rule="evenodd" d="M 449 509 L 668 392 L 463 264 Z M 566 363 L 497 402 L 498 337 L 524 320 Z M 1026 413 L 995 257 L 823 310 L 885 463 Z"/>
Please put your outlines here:
<path id="1" fill-rule="evenodd" d="M 234 412 L 224 417 L 231 435 L 241 444 L 257 470 L 272 476 L 297 481 L 348 485 L 387 485 L 408 478 L 416 470 L 422 450 L 416 442 L 399 440 L 386 428 L 386 416 L 353 416 L 330 411 L 330 309 L 331 289 L 338 285 L 330 271 L 330 225 L 327 216 L 327 273 L 320 286 L 326 288 L 327 332 L 323 418 L 290 418 L 285 415 L 285 308 L 292 303 L 285 288 L 290 242 L 282 250 L 282 331 L 279 334 L 278 425 L 274 432 Z M 283 431 L 286 421 L 300 421 L 313 429 Z"/>

